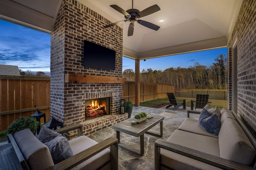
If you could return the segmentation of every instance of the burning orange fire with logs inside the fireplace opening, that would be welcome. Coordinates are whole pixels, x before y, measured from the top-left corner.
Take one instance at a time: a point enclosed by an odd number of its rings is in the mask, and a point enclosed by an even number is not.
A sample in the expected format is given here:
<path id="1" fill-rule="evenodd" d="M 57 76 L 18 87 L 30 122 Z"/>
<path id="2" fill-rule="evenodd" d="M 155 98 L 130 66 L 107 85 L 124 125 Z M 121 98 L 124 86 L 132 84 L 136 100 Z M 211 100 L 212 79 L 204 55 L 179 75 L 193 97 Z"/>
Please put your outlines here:
<path id="1" fill-rule="evenodd" d="M 98 98 L 85 101 L 85 119 L 107 115 L 110 112 L 110 98 Z"/>

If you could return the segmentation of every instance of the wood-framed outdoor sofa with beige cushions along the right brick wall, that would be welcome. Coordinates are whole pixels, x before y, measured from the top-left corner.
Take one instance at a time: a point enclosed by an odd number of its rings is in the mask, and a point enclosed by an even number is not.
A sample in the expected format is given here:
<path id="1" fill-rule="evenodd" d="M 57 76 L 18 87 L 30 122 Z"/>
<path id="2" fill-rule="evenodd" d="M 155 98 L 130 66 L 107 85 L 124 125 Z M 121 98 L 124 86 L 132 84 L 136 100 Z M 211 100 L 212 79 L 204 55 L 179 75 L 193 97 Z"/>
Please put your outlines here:
<path id="1" fill-rule="evenodd" d="M 239 117 L 223 108 L 220 131 L 212 135 L 198 125 L 198 119 L 190 118 L 190 113 L 200 114 L 188 111 L 188 118 L 167 141 L 155 142 L 156 170 L 255 170 L 256 141 Z"/>

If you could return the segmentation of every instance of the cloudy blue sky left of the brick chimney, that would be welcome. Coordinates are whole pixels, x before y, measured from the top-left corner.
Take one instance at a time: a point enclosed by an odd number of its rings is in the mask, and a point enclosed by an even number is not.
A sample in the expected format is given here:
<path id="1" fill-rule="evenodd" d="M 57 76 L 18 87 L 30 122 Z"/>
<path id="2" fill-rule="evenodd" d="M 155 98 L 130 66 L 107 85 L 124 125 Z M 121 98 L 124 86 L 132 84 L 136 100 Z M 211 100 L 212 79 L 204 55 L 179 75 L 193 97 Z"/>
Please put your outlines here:
<path id="1" fill-rule="evenodd" d="M 0 20 L 0 63 L 50 70 L 50 34 Z"/>

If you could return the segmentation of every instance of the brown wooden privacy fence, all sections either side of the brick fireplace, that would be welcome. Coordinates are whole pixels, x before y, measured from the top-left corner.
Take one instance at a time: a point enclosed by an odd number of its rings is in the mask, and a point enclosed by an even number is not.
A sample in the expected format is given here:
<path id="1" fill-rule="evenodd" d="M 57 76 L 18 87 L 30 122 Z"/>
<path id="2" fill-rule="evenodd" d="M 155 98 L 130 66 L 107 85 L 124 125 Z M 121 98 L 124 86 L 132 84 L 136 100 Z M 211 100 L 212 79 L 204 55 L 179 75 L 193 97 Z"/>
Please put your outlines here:
<path id="1" fill-rule="evenodd" d="M 140 83 L 140 102 L 166 98 L 174 86 Z M 123 84 L 123 98 L 135 102 L 135 83 Z M 0 76 L 0 132 L 20 116 L 30 116 L 36 109 L 50 119 L 50 77 Z M 43 118 L 41 119 L 43 123 Z"/>

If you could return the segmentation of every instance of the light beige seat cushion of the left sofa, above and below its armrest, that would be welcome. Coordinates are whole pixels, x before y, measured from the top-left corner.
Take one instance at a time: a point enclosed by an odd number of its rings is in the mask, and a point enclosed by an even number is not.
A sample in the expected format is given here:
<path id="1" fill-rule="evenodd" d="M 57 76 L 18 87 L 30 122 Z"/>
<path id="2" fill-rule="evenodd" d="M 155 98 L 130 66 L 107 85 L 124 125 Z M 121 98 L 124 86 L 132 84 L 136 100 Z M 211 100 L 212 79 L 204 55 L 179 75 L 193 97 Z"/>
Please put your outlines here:
<path id="1" fill-rule="evenodd" d="M 92 147 L 93 145 L 96 145 L 97 142 L 82 135 L 80 137 L 71 139 L 69 141 L 70 143 L 70 147 L 72 148 L 72 151 L 74 154 L 77 154 L 83 150 L 86 150 L 90 147 Z M 80 169 L 85 169 L 85 170 L 93 170 L 93 169 L 97 169 L 100 166 L 102 166 L 103 164 L 105 164 L 106 162 L 108 162 L 110 160 L 110 150 L 109 149 L 105 149 L 102 150 L 101 152 L 99 152 L 98 154 L 92 156 L 91 158 L 89 158 L 88 160 L 82 162 L 81 164 L 75 166 L 74 168 L 72 168 L 73 170 L 80 170 Z M 107 169 L 111 169 L 111 166 Z"/>

